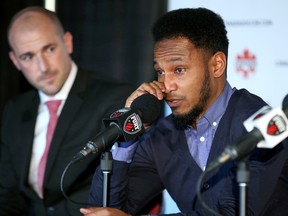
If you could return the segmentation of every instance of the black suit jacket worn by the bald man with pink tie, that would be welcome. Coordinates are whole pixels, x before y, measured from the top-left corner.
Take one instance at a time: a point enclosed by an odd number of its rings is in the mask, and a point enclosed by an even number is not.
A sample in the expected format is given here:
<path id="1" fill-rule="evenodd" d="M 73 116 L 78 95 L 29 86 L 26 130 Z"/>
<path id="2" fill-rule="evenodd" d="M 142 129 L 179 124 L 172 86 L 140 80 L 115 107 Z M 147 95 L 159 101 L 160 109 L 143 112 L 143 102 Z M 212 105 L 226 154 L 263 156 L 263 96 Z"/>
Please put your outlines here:
<path id="1" fill-rule="evenodd" d="M 61 193 L 61 175 L 87 141 L 104 129 L 103 117 L 122 108 L 131 92 L 129 85 L 78 71 L 51 143 L 43 200 L 28 183 L 38 92 L 32 90 L 11 100 L 5 107 L 1 127 L 0 215 L 81 215 L 80 205 L 67 201 Z M 98 163 L 99 157 L 92 155 L 67 170 L 63 187 L 71 200 L 87 202 Z"/>

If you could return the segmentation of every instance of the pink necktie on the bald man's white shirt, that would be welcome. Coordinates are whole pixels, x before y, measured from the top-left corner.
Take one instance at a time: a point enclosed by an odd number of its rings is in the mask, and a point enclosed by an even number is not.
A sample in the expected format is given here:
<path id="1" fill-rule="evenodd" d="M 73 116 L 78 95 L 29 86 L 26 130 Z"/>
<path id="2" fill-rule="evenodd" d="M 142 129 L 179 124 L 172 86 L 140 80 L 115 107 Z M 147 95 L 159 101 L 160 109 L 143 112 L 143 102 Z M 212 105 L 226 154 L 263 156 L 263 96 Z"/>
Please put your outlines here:
<path id="1" fill-rule="evenodd" d="M 40 193 L 42 196 L 43 196 L 43 181 L 44 181 L 45 167 L 46 167 L 51 140 L 52 140 L 54 130 L 55 130 L 57 120 L 58 120 L 57 110 L 60 104 L 61 104 L 61 100 L 52 100 L 52 101 L 46 102 L 46 105 L 49 110 L 50 118 L 49 118 L 49 123 L 48 123 L 48 128 L 47 128 L 47 134 L 46 134 L 46 147 L 45 147 L 45 151 L 41 157 L 40 164 L 38 167 L 38 186 L 39 186 Z"/>

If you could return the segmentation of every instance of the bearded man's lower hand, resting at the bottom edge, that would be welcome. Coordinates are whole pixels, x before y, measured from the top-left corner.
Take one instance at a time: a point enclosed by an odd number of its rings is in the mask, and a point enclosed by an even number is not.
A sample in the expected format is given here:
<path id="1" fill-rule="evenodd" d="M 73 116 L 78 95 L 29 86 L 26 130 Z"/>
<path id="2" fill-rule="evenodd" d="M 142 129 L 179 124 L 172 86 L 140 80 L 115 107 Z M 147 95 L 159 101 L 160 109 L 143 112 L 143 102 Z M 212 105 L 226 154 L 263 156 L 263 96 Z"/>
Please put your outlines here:
<path id="1" fill-rule="evenodd" d="M 116 208 L 81 208 L 80 212 L 85 216 L 130 216 Z"/>

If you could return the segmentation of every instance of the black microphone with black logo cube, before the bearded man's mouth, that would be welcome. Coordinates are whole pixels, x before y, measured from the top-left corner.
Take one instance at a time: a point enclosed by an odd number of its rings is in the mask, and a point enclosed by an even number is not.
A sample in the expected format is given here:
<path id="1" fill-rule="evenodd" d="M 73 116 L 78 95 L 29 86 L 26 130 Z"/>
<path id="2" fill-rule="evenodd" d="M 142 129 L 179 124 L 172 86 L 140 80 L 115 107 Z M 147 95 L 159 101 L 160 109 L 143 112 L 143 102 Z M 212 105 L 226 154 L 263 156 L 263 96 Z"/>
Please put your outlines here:
<path id="1" fill-rule="evenodd" d="M 116 141 L 131 141 L 141 135 L 145 129 L 143 123 L 152 123 L 160 115 L 160 101 L 151 94 L 137 97 L 130 108 L 122 108 L 104 118 L 105 130 L 98 133 L 76 154 L 71 163 L 84 159 L 90 153 L 98 154 L 111 148 Z M 141 120 L 142 119 L 142 120 Z"/>

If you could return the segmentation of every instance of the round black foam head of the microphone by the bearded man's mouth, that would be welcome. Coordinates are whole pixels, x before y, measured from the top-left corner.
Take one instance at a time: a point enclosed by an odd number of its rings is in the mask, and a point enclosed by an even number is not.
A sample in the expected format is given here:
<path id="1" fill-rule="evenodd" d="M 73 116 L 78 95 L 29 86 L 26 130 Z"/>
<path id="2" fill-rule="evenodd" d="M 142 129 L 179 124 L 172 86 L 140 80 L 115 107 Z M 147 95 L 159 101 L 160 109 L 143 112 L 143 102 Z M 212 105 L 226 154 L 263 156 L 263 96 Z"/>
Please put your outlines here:
<path id="1" fill-rule="evenodd" d="M 152 94 L 143 94 L 131 104 L 132 110 L 139 111 L 143 123 L 151 123 L 160 115 L 161 102 Z"/>

